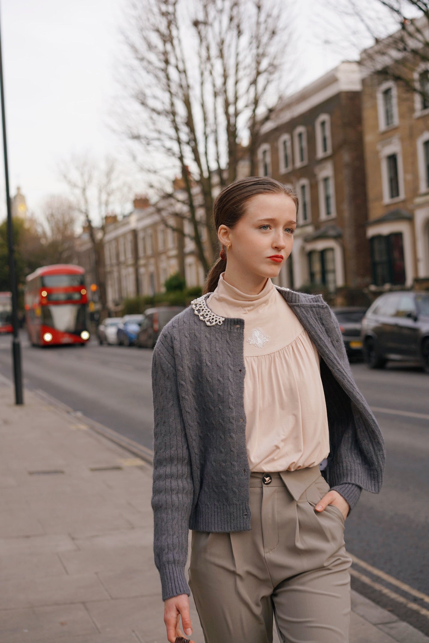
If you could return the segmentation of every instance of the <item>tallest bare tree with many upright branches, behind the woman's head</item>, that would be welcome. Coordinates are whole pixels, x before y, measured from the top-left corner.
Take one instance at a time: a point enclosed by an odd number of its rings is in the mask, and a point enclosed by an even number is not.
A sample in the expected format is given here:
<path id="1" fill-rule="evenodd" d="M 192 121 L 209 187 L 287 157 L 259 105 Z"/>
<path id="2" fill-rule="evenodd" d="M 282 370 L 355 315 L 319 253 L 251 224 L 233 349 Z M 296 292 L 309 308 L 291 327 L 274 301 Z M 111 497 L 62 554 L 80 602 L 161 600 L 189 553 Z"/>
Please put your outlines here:
<path id="1" fill-rule="evenodd" d="M 134 159 L 154 201 L 178 203 L 205 271 L 217 252 L 214 195 L 237 178 L 244 156 L 255 174 L 260 130 L 280 97 L 292 54 L 288 7 L 288 0 L 130 3 L 122 77 L 132 102 L 122 131 L 138 143 Z M 182 190 L 172 189 L 174 176 Z"/>

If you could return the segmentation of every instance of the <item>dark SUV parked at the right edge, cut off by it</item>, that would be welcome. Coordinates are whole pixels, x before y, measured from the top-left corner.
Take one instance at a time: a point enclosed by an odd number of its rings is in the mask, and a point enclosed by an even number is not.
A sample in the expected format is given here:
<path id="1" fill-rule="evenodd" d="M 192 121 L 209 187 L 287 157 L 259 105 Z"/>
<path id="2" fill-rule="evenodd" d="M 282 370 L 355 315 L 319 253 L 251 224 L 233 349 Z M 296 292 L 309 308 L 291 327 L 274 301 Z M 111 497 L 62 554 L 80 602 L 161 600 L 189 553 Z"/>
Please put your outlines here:
<path id="1" fill-rule="evenodd" d="M 382 294 L 362 320 L 361 338 L 369 368 L 391 359 L 415 361 L 429 373 L 429 293 Z"/>

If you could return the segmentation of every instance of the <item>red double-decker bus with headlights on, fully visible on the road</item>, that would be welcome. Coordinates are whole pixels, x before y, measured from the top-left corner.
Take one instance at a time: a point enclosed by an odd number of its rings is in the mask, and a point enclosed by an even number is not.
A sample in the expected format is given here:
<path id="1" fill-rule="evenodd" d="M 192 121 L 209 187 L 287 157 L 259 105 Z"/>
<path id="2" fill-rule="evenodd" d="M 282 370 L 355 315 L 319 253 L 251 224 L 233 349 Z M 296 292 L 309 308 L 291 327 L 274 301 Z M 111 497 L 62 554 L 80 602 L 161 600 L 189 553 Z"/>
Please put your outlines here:
<path id="1" fill-rule="evenodd" d="M 72 264 L 37 268 L 26 278 L 26 327 L 33 346 L 86 344 L 89 317 L 85 271 Z"/>

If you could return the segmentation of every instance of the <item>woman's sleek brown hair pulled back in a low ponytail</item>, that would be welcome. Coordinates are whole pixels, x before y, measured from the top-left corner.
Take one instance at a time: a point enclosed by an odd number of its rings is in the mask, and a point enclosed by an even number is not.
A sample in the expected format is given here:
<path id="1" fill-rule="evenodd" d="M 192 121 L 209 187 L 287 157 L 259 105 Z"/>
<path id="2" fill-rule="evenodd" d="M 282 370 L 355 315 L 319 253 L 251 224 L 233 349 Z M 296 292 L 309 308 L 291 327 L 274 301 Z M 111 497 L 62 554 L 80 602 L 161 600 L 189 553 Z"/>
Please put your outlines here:
<path id="1" fill-rule="evenodd" d="M 268 176 L 248 176 L 245 179 L 238 179 L 226 186 L 215 198 L 213 204 L 213 219 L 216 231 L 219 226 L 224 225 L 233 228 L 241 219 L 246 210 L 246 204 L 251 197 L 257 194 L 286 194 L 291 197 L 298 212 L 298 197 L 291 188 L 283 183 L 270 179 Z M 222 255 L 226 257 L 222 246 Z M 219 257 L 208 271 L 203 287 L 203 294 L 212 293 L 217 286 L 219 276 L 226 268 L 226 259 Z"/>

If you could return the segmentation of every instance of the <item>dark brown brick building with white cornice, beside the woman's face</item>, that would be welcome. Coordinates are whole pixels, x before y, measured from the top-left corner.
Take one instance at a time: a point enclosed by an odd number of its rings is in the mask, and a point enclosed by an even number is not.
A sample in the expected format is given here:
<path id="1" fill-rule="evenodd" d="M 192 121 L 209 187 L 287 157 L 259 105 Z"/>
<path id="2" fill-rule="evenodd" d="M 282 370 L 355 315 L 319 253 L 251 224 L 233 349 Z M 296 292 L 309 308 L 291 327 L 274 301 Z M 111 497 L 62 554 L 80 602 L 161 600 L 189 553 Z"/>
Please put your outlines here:
<path id="1" fill-rule="evenodd" d="M 285 100 L 262 130 L 259 174 L 295 188 L 300 205 L 280 285 L 334 293 L 369 282 L 361 77 L 342 62 Z"/>

